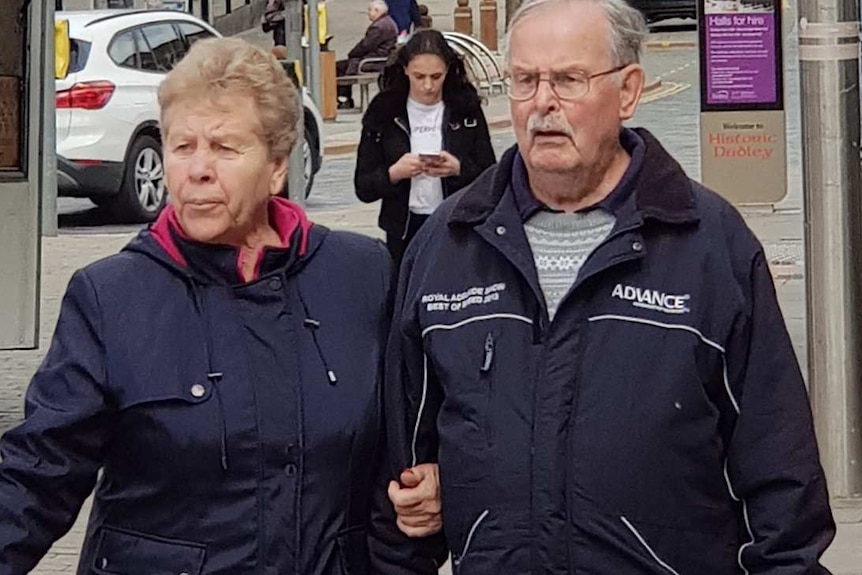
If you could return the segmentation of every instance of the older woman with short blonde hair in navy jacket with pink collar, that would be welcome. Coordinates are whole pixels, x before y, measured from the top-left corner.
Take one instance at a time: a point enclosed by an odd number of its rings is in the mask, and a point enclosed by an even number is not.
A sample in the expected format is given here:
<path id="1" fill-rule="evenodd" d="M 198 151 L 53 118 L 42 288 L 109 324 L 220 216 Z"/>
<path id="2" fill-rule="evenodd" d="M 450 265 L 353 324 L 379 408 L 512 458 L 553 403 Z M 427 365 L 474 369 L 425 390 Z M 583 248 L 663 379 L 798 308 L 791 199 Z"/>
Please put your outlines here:
<path id="1" fill-rule="evenodd" d="M 171 204 L 71 280 L 0 443 L 0 575 L 94 488 L 79 575 L 436 572 L 375 503 L 389 256 L 276 197 L 296 90 L 213 39 L 159 103 Z"/>

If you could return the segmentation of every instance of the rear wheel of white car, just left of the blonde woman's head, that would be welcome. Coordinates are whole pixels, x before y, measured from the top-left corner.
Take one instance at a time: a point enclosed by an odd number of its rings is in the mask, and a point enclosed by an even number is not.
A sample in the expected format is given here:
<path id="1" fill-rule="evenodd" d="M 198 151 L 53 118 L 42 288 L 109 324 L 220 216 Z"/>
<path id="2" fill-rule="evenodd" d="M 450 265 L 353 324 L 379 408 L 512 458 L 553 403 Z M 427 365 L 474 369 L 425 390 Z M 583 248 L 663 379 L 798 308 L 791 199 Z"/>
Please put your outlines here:
<path id="1" fill-rule="evenodd" d="M 162 145 L 152 136 L 138 136 L 126 159 L 123 185 L 114 211 L 127 221 L 151 222 L 159 215 L 166 199 Z"/>

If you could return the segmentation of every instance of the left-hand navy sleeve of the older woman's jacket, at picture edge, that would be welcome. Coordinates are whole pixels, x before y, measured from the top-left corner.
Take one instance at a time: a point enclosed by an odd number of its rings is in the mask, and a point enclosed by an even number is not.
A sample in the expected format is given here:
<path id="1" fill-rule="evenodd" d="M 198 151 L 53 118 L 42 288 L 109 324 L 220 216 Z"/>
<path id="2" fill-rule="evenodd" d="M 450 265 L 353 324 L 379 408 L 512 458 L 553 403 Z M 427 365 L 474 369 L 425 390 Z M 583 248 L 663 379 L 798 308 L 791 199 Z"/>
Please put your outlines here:
<path id="1" fill-rule="evenodd" d="M 109 435 L 100 310 L 86 273 L 69 284 L 51 347 L 0 441 L 0 575 L 29 573 L 93 490 Z"/>

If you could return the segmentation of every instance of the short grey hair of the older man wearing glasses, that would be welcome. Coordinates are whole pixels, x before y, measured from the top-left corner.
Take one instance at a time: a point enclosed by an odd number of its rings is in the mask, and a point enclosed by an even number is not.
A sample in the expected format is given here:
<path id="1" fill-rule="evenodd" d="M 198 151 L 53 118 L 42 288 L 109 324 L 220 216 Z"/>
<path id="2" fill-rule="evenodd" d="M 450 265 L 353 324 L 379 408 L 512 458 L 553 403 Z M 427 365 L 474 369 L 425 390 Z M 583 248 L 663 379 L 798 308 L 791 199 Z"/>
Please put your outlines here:
<path id="1" fill-rule="evenodd" d="M 504 60 L 509 65 L 509 46 L 512 43 L 512 30 L 531 14 L 556 6 L 591 3 L 602 8 L 610 25 L 610 55 L 614 66 L 640 63 L 644 38 L 649 34 L 643 14 L 632 8 L 626 0 L 525 0 L 512 16 L 506 32 L 506 51 Z"/>

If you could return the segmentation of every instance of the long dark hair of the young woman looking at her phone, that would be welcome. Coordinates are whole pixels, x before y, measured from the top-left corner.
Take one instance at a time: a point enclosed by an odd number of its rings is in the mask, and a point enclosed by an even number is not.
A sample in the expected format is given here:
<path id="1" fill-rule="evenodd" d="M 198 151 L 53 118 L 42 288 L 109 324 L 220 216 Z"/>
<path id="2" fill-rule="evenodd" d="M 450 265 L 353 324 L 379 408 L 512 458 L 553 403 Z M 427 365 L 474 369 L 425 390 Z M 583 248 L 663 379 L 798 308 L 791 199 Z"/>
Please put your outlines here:
<path id="1" fill-rule="evenodd" d="M 444 102 L 459 107 L 472 107 L 480 103 L 476 87 L 467 78 L 464 61 L 437 30 L 417 30 L 407 43 L 393 54 L 380 73 L 380 91 L 389 92 L 406 102 L 410 94 L 407 64 L 416 56 L 424 54 L 437 56 L 446 65 L 446 78 L 443 80 Z"/>

